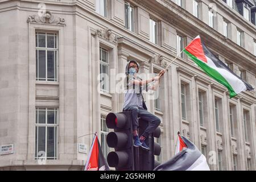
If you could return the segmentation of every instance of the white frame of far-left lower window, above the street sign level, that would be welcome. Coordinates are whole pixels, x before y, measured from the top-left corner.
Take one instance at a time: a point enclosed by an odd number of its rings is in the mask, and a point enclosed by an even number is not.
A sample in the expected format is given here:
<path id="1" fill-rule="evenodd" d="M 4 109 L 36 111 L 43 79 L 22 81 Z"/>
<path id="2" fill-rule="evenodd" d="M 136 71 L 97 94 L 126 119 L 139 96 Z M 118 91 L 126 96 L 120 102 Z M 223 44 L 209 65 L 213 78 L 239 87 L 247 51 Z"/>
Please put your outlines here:
<path id="1" fill-rule="evenodd" d="M 54 110 L 54 113 L 55 113 L 55 122 L 52 124 L 49 124 L 49 123 L 47 123 L 48 121 L 47 121 L 47 113 L 48 113 L 48 110 Z M 46 111 L 46 121 L 45 121 L 45 123 L 37 123 L 37 121 L 39 121 L 39 111 Z M 37 115 L 37 118 L 36 118 L 36 121 L 35 121 L 35 130 L 37 130 L 37 135 L 35 136 L 35 139 L 36 139 L 36 146 L 35 146 L 35 159 L 53 159 L 53 160 L 56 160 L 57 159 L 57 154 L 58 154 L 58 147 L 57 147 L 57 144 L 59 143 L 58 142 L 58 133 L 59 133 L 59 109 L 57 108 L 57 107 L 53 107 L 53 108 L 51 108 L 51 107 L 36 107 L 36 113 L 38 113 L 38 114 L 36 114 Z M 44 156 L 39 156 L 39 152 L 40 151 L 38 151 L 38 130 L 39 130 L 39 127 L 45 127 L 46 128 L 46 130 L 45 130 L 45 150 L 46 151 L 44 151 L 45 152 L 45 155 Z M 53 143 L 53 146 L 54 146 L 54 148 L 55 148 L 55 152 L 54 152 L 54 156 L 53 157 L 48 157 L 47 156 L 47 129 L 48 129 L 48 127 L 54 127 L 54 143 Z"/>

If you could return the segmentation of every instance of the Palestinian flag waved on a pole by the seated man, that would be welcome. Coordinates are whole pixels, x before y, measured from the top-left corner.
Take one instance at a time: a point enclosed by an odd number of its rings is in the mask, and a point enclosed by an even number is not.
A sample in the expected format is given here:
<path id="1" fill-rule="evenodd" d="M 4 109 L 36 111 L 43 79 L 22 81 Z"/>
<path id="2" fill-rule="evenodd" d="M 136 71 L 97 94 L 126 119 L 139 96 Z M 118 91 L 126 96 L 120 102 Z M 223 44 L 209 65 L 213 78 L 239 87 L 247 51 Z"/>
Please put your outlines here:
<path id="1" fill-rule="evenodd" d="M 245 90 L 253 90 L 254 88 L 238 77 L 231 69 L 229 69 L 221 60 L 213 55 L 207 47 L 201 42 L 200 36 L 197 36 L 183 50 L 188 57 L 203 69 L 207 75 L 220 84 L 226 86 L 229 90 L 230 98 Z"/>

